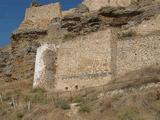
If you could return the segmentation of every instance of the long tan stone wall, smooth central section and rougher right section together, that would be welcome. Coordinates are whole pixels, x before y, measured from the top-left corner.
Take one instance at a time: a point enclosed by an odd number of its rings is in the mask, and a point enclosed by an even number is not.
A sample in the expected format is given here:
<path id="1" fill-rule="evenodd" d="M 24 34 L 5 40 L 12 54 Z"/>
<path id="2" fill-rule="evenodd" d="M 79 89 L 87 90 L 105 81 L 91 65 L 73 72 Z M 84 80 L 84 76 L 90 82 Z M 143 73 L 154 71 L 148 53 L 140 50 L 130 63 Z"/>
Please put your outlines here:
<path id="1" fill-rule="evenodd" d="M 150 22 L 157 19 L 158 17 L 151 19 Z M 85 36 L 64 39 L 57 45 L 56 72 L 53 80 L 55 90 L 68 91 L 101 86 L 127 73 L 153 65 L 158 66 L 159 29 L 139 28 L 141 25 L 149 26 L 150 22 L 145 21 L 133 29 L 126 30 L 126 35 L 139 31 L 139 34 L 134 33 L 133 36 L 120 37 L 117 33 L 123 33 L 122 29 L 108 28 Z"/>

